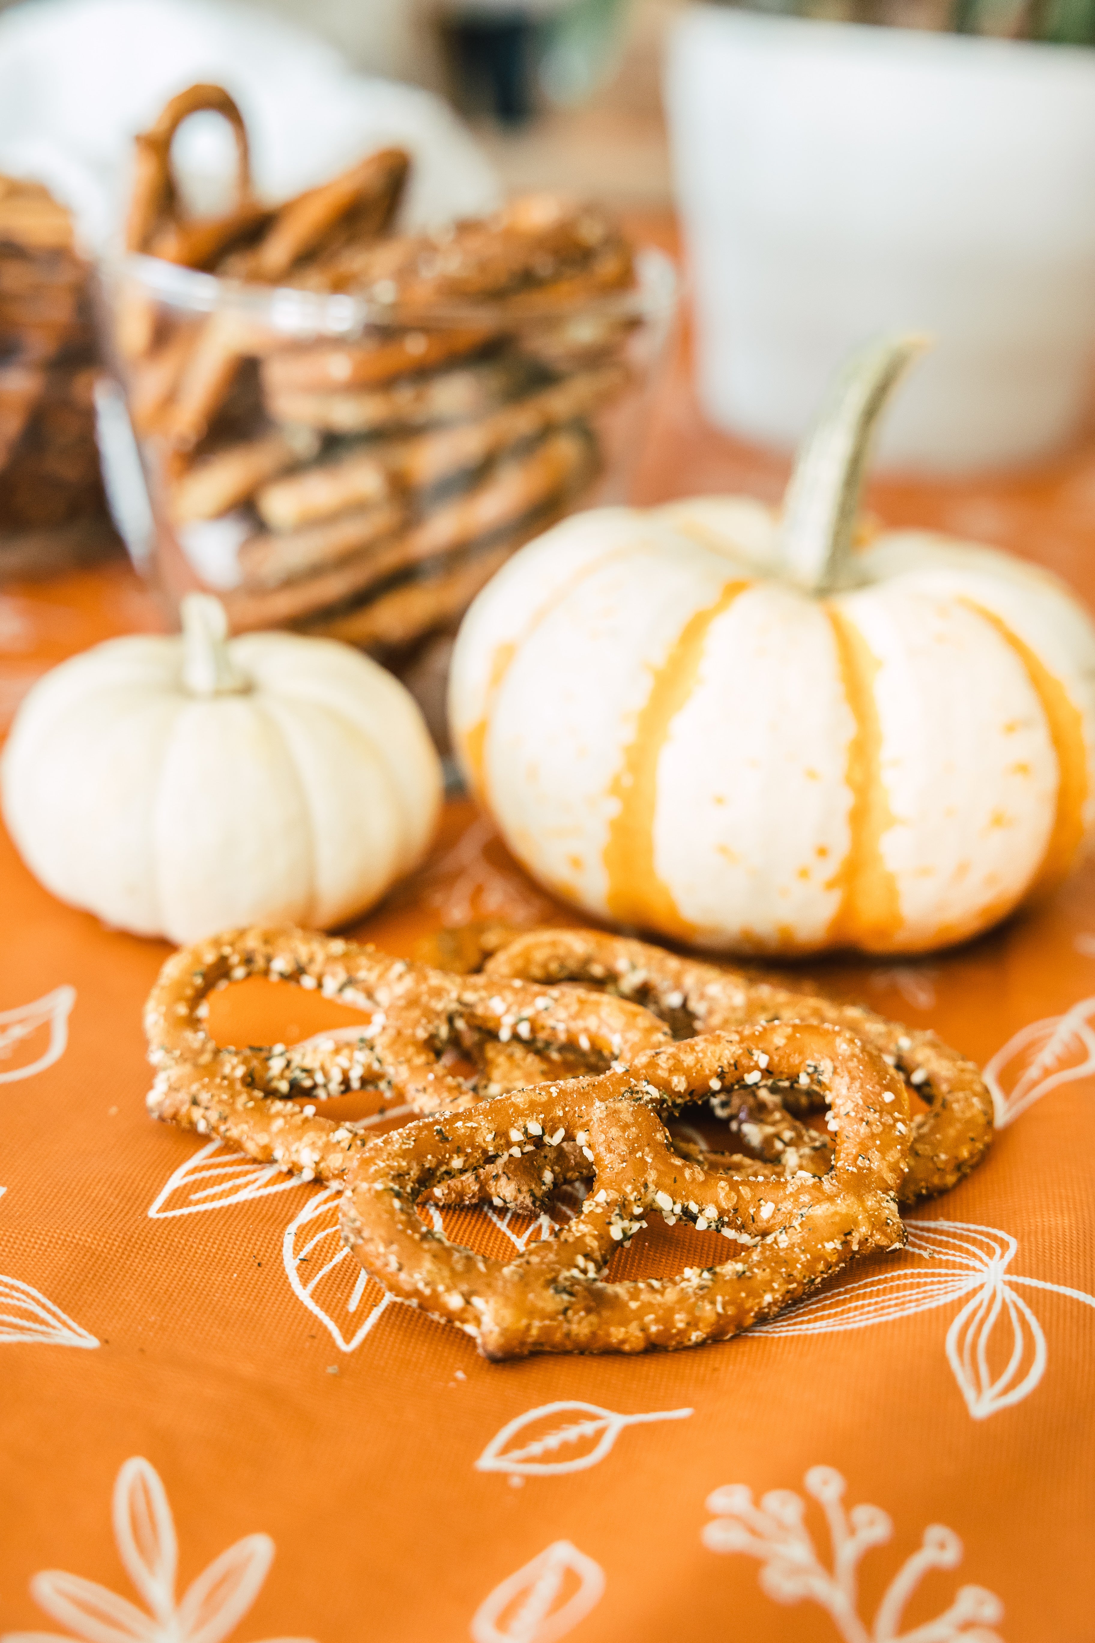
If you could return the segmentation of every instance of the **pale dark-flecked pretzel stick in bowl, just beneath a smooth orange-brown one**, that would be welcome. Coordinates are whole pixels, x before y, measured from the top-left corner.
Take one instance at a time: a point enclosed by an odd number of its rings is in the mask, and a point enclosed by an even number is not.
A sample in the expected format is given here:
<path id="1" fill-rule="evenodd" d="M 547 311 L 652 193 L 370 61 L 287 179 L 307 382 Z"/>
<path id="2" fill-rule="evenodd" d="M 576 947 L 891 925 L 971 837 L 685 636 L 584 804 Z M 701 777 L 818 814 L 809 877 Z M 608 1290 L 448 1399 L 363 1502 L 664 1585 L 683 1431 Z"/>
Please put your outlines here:
<path id="1" fill-rule="evenodd" d="M 387 388 L 350 393 L 277 393 L 263 376 L 266 407 L 276 422 L 302 422 L 328 434 L 428 427 L 483 416 L 520 391 L 530 376 L 517 355 L 483 360 L 433 376 L 409 376 Z"/>

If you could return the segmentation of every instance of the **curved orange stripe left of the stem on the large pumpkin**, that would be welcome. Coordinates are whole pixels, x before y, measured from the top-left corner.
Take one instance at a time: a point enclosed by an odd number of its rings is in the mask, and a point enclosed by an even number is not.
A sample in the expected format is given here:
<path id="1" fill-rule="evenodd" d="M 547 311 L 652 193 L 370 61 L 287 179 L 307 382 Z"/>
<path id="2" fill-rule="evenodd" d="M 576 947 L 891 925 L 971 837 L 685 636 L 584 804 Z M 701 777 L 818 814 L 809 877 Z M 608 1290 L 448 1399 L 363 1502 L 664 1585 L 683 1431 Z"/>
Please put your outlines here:
<path id="1" fill-rule="evenodd" d="M 727 582 L 714 605 L 688 618 L 665 662 L 653 674 L 650 695 L 635 721 L 635 734 L 624 749 L 609 787 L 609 797 L 619 802 L 601 858 L 609 881 L 609 914 L 621 923 L 658 930 L 683 941 L 696 933 L 694 927 L 681 917 L 655 866 L 658 761 L 673 720 L 696 687 L 711 623 L 750 585 Z"/>

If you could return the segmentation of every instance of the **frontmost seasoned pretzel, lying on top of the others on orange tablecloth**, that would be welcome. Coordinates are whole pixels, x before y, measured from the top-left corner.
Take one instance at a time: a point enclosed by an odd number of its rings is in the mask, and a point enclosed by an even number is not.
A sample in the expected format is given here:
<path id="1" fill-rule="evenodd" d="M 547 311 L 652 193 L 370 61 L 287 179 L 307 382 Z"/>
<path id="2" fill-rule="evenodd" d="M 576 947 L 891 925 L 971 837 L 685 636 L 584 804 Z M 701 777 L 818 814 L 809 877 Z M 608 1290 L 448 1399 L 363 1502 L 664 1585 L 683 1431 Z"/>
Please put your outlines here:
<path id="1" fill-rule="evenodd" d="M 824 1096 L 836 1134 L 826 1176 L 732 1176 L 673 1150 L 658 1111 L 760 1076 L 806 1079 Z M 593 1171 L 583 1213 L 515 1260 L 455 1245 L 419 1217 L 438 1185 L 566 1142 Z M 341 1231 L 389 1291 L 456 1324 L 493 1360 L 675 1349 L 772 1318 L 854 1254 L 900 1247 L 906 1147 L 908 1094 L 878 1052 L 837 1027 L 781 1022 L 650 1052 L 625 1093 L 612 1079 L 540 1084 L 384 1135 L 350 1170 Z M 612 1252 L 655 1211 L 722 1232 L 734 1257 L 668 1280 L 609 1282 Z"/>

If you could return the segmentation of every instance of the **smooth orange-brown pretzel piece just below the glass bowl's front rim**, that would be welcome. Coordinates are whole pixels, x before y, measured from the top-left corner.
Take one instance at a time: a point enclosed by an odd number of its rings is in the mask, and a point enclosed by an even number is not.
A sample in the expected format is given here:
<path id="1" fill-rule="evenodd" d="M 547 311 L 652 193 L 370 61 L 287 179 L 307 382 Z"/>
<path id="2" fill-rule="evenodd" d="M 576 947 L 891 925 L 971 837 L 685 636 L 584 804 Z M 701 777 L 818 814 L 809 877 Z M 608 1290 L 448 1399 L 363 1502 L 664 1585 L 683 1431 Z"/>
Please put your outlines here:
<path id="1" fill-rule="evenodd" d="M 274 393 L 322 393 L 363 388 L 394 376 L 433 371 L 450 360 L 478 353 L 497 332 L 478 329 L 376 332 L 337 347 L 286 348 L 266 363 L 264 381 Z"/>

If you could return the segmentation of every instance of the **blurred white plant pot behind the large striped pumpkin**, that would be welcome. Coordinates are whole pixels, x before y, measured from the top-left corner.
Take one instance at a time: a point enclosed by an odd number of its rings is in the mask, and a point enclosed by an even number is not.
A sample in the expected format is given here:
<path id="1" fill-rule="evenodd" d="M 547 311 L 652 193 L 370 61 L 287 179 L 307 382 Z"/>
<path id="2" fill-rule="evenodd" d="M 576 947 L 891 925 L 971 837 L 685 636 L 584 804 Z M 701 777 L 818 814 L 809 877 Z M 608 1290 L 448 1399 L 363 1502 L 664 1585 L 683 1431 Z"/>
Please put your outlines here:
<path id="1" fill-rule="evenodd" d="M 880 457 L 1038 458 L 1079 432 L 1095 357 L 1095 53 L 698 5 L 667 104 L 708 416 L 801 439 L 837 360 L 937 348 Z"/>

